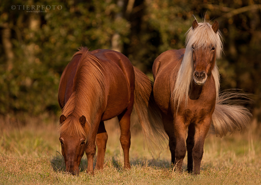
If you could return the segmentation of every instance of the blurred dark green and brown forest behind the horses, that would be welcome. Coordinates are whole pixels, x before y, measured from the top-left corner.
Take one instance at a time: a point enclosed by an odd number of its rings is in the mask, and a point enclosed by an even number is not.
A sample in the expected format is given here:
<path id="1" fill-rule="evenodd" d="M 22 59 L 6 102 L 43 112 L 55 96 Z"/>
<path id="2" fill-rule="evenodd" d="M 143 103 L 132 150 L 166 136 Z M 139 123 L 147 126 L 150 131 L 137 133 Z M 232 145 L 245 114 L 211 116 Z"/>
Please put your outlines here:
<path id="1" fill-rule="evenodd" d="M 221 89 L 255 94 L 260 123 L 260 0 L 2 0 L 0 115 L 59 115 L 60 76 L 80 46 L 120 51 L 151 76 L 158 55 L 184 48 L 193 15 L 219 22 Z"/>

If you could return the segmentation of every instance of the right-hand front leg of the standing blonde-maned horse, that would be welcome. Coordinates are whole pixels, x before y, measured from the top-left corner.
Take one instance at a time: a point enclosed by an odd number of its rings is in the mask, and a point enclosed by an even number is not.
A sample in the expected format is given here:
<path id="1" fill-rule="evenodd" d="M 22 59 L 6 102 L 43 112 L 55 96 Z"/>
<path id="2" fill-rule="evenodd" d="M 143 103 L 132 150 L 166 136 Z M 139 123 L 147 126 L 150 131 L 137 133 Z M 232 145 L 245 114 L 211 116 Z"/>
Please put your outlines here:
<path id="1" fill-rule="evenodd" d="M 211 124 L 211 116 L 205 118 L 203 122 L 195 123 L 195 136 L 194 136 L 194 147 L 193 147 L 193 174 L 200 174 L 200 164 L 203 156 L 203 147 L 206 134 L 209 131 Z"/>

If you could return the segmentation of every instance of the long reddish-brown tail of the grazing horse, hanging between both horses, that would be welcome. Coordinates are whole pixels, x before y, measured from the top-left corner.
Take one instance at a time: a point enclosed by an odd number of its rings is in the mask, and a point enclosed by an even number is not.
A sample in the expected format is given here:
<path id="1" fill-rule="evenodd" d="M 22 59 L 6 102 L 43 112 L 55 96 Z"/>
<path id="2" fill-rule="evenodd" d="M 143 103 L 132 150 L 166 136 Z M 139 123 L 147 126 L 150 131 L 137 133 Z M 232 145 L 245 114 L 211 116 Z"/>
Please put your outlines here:
<path id="1" fill-rule="evenodd" d="M 134 108 L 142 132 L 146 141 L 150 139 L 154 144 L 161 146 L 162 141 L 166 138 L 166 133 L 162 124 L 160 108 L 153 97 L 153 82 L 142 71 L 136 67 L 133 68 L 135 72 Z M 147 144 L 150 145 L 150 142 Z"/>

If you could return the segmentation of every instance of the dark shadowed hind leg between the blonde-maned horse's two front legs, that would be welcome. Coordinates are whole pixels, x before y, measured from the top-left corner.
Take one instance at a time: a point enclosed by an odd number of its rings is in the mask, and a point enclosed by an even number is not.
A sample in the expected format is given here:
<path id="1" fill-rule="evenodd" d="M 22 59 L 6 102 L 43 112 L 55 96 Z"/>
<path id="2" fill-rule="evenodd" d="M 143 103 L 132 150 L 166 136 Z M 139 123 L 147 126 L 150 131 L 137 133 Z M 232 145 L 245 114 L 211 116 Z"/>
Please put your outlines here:
<path id="1" fill-rule="evenodd" d="M 194 147 L 194 135 L 195 135 L 195 124 L 191 123 L 189 125 L 189 131 L 188 131 L 188 137 L 186 140 L 186 147 L 188 151 L 188 166 L 187 166 L 187 171 L 192 172 L 193 171 L 193 147 Z"/>

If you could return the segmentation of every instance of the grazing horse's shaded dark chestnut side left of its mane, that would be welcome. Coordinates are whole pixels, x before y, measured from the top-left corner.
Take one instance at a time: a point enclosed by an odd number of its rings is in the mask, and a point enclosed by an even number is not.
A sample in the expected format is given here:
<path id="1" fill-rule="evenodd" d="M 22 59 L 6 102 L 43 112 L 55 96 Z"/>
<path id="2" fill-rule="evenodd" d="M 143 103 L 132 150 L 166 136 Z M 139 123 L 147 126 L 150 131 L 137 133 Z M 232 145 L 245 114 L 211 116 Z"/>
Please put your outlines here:
<path id="1" fill-rule="evenodd" d="M 72 60 L 68 63 L 68 65 L 65 67 L 61 75 L 58 89 L 58 102 L 61 108 L 64 107 L 73 91 L 75 91 L 75 89 L 73 89 L 75 82 L 75 74 L 80 60 L 81 55 L 75 55 L 72 58 Z"/>

